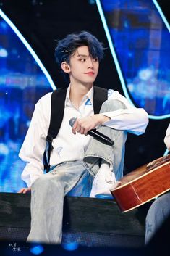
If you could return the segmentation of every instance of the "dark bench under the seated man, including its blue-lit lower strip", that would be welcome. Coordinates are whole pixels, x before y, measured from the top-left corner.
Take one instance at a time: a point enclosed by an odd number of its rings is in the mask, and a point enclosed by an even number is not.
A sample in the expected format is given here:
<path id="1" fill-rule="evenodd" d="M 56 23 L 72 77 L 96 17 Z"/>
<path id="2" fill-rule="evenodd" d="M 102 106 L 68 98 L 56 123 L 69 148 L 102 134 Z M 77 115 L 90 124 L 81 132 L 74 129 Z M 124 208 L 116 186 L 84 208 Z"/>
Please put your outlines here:
<path id="1" fill-rule="evenodd" d="M 63 241 L 90 247 L 143 247 L 148 207 L 122 213 L 114 199 L 65 197 Z M 29 231 L 30 194 L 0 193 L 0 240 L 26 241 Z"/>

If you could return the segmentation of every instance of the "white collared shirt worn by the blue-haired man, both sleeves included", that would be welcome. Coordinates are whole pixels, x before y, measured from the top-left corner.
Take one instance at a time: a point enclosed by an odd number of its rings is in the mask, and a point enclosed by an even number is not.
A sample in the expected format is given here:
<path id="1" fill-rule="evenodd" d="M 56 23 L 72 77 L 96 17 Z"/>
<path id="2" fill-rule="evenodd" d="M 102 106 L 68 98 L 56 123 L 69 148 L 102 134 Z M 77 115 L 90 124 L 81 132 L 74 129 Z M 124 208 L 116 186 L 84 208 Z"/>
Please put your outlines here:
<path id="1" fill-rule="evenodd" d="M 67 88 L 61 128 L 56 139 L 52 142 L 54 149 L 51 152 L 51 166 L 65 161 L 81 160 L 91 139 L 89 135 L 73 134 L 69 120 L 72 117 L 86 117 L 94 114 L 93 87 L 83 97 L 79 109 L 74 107 L 70 101 L 69 90 L 70 87 Z M 35 104 L 30 127 L 20 149 L 19 157 L 27 162 L 22 172 L 22 180 L 27 183 L 28 187 L 31 186 L 36 178 L 43 175 L 43 152 L 46 147 L 46 135 L 51 117 L 51 94 L 48 93 L 41 97 L 37 104 Z M 103 123 L 103 125 L 119 130 L 126 130 L 136 135 L 145 132 L 145 128 L 148 125 L 148 114 L 143 108 L 132 106 L 118 91 L 111 89 L 108 91 L 108 99 L 119 100 L 127 109 L 103 113 L 103 115 L 111 118 L 111 120 Z"/>

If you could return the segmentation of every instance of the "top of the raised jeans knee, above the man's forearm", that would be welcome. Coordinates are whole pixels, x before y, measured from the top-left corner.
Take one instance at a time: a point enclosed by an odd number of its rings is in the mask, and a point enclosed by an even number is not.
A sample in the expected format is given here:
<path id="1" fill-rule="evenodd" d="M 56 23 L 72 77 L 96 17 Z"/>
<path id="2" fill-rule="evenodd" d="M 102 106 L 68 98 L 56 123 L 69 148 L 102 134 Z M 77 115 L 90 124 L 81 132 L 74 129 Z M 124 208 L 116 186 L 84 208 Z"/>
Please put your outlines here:
<path id="1" fill-rule="evenodd" d="M 124 104 L 122 102 L 119 102 L 119 100 L 108 99 L 105 102 L 103 102 L 100 112 L 109 112 L 109 111 L 114 111 L 114 110 L 119 110 L 124 108 L 125 108 Z"/>

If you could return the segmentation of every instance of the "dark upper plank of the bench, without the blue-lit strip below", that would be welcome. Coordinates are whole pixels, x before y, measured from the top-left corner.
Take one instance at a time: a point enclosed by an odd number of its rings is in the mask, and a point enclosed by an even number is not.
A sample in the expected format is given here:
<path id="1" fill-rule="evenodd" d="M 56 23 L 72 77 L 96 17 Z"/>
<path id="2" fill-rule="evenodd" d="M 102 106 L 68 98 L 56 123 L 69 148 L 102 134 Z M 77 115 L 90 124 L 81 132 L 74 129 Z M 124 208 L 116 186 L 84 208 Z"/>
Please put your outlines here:
<path id="1" fill-rule="evenodd" d="M 112 199 L 65 197 L 63 230 L 144 236 L 146 212 L 122 213 Z M 30 194 L 0 193 L 0 226 L 30 228 Z"/>

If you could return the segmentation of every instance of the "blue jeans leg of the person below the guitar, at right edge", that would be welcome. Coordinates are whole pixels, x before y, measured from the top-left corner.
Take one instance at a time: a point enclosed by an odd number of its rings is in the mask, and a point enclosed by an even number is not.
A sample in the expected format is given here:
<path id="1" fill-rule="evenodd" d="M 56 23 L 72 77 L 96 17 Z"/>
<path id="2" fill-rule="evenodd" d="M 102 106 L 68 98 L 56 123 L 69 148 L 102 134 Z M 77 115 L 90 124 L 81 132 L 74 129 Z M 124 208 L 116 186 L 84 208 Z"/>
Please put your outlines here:
<path id="1" fill-rule="evenodd" d="M 170 217 L 170 192 L 158 197 L 150 206 L 145 221 L 145 244 L 148 244 L 164 221 Z"/>

